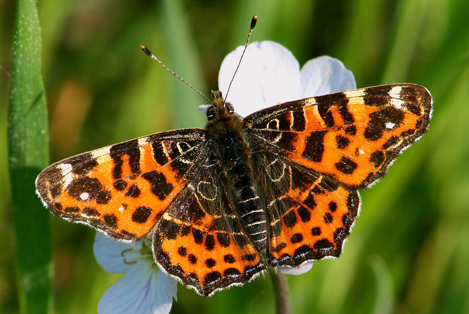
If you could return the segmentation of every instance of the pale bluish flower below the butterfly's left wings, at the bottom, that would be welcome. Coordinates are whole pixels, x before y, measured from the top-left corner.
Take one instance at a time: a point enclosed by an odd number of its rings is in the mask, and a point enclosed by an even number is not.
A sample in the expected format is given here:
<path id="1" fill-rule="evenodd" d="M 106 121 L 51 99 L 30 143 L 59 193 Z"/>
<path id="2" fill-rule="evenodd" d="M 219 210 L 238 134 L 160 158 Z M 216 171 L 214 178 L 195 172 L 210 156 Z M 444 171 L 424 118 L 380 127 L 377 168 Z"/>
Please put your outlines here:
<path id="1" fill-rule="evenodd" d="M 99 300 L 98 313 L 168 314 L 177 280 L 156 266 L 151 254 L 151 237 L 145 242 L 127 244 L 96 232 L 94 256 L 110 273 L 126 273 Z"/>

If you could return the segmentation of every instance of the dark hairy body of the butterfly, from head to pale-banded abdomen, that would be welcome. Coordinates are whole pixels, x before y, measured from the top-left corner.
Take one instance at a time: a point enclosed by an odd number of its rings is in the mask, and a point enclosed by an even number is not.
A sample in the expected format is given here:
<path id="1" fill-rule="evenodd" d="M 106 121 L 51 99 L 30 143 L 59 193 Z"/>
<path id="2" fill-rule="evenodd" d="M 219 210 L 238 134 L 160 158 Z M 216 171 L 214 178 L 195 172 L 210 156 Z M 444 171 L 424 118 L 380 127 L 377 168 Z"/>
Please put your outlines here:
<path id="1" fill-rule="evenodd" d="M 227 193 L 230 207 L 240 218 L 243 229 L 259 249 L 267 243 L 266 212 L 259 198 L 253 175 L 252 149 L 246 123 L 226 103 L 220 92 L 213 92 L 213 105 L 207 109 L 206 140 L 210 145 L 209 162 Z M 257 170 L 258 171 L 258 170 Z"/>

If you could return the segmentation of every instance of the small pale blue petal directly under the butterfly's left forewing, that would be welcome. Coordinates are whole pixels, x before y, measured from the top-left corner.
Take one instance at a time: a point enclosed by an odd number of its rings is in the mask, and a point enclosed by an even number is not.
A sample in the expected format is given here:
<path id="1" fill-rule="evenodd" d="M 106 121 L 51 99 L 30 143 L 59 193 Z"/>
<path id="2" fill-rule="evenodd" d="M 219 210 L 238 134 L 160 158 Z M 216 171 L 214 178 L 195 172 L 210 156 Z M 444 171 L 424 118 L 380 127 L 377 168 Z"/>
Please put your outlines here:
<path id="1" fill-rule="evenodd" d="M 101 232 L 96 232 L 93 253 L 96 261 L 107 272 L 123 273 L 132 267 L 132 264 L 125 263 L 124 259 L 129 262 L 141 259 L 140 248 L 140 243 L 124 243 L 108 238 Z"/>

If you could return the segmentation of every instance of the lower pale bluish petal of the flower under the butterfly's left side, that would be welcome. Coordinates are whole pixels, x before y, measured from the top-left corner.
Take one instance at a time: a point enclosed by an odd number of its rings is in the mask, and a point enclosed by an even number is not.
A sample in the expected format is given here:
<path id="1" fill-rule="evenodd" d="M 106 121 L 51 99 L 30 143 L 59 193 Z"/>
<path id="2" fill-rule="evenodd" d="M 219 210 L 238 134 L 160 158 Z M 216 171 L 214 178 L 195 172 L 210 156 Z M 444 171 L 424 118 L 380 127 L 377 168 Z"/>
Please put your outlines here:
<path id="1" fill-rule="evenodd" d="M 104 292 L 98 303 L 99 314 L 169 313 L 177 281 L 166 276 L 154 263 L 139 264 Z"/>

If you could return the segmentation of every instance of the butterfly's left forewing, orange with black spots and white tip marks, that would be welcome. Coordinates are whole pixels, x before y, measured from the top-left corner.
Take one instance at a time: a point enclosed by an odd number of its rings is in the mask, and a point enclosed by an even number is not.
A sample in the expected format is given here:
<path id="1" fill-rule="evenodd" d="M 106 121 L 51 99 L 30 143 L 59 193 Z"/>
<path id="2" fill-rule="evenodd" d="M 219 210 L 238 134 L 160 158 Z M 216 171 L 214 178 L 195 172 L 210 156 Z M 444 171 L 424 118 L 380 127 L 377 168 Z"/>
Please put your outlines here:
<path id="1" fill-rule="evenodd" d="M 146 236 L 197 168 L 203 130 L 161 132 L 59 161 L 36 179 L 49 210 L 121 240 Z"/>

